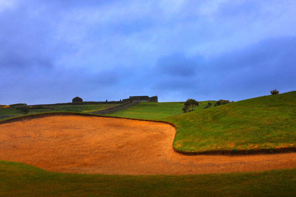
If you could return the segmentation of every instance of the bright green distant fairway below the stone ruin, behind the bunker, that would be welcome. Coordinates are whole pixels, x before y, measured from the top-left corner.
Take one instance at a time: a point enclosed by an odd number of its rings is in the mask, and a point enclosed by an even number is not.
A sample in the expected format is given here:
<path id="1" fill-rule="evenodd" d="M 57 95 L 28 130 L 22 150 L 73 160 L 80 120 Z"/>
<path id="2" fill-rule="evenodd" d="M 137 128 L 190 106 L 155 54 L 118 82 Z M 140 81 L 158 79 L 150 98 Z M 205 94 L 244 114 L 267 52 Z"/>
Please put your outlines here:
<path id="1" fill-rule="evenodd" d="M 195 110 L 201 110 L 207 105 L 207 102 L 212 102 L 213 106 L 215 101 L 201 101 L 199 108 L 196 107 Z M 184 102 L 140 102 L 130 108 L 108 115 L 126 118 L 159 120 L 161 118 L 172 116 L 176 113 L 181 113 L 181 109 L 183 107 L 182 103 Z"/>

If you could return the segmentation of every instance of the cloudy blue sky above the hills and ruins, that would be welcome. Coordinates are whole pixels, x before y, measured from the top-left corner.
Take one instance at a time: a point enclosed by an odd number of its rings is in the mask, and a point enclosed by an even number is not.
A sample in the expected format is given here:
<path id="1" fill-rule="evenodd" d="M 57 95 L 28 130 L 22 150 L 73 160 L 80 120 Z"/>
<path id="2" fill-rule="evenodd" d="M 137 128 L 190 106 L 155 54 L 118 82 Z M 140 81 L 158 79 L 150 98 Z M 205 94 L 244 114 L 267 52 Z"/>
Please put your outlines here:
<path id="1" fill-rule="evenodd" d="M 295 0 L 0 0 L 0 104 L 296 90 Z"/>

